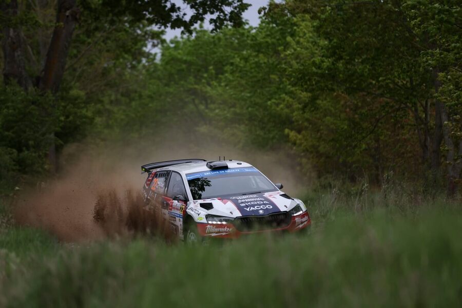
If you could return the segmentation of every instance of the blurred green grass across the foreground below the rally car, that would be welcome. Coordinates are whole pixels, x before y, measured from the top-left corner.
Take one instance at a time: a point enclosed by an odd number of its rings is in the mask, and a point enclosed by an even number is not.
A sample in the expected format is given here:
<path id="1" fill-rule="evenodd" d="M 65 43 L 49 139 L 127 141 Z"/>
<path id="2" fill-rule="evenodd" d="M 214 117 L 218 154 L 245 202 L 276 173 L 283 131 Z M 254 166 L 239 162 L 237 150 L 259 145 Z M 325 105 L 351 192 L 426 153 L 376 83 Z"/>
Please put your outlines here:
<path id="1" fill-rule="evenodd" d="M 359 196 L 359 195 L 358 195 Z M 460 205 L 306 196 L 310 232 L 189 247 L 60 243 L 2 210 L 0 307 L 459 307 Z"/>

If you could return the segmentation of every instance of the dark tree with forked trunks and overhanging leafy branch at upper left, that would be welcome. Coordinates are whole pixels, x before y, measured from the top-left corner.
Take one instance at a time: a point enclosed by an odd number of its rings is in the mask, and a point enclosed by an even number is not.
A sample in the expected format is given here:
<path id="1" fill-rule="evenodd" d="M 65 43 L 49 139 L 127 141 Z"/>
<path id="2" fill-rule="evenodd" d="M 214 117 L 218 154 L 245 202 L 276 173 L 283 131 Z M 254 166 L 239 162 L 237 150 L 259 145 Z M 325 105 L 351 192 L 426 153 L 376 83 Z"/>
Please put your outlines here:
<path id="1" fill-rule="evenodd" d="M 31 2 L 32 3 L 32 2 Z M 33 12 L 52 4 L 52 1 L 37 0 L 33 7 L 17 0 L 2 0 L 1 22 L 3 26 L 4 83 L 13 82 L 25 91 L 51 92 L 56 94 L 63 81 L 68 54 L 73 34 L 81 16 L 88 15 L 92 23 L 100 25 L 125 24 L 127 27 L 147 22 L 150 26 L 158 25 L 183 28 L 191 31 L 198 22 L 204 21 L 210 14 L 211 24 L 219 29 L 225 24 L 239 26 L 241 14 L 248 7 L 242 0 L 184 0 L 184 5 L 191 12 L 187 17 L 185 10 L 168 0 L 157 1 L 122 1 L 122 0 L 57 0 L 56 17 L 50 43 L 47 48 L 43 69 L 37 76 L 28 73 L 27 54 L 30 46 L 25 40 L 23 28 L 40 24 L 40 18 Z M 25 9 L 20 11 L 18 4 Z M 91 29 L 91 27 L 88 27 Z M 38 61 L 42 63 L 42 61 Z M 49 162 L 55 167 L 54 131 L 50 135 Z"/>

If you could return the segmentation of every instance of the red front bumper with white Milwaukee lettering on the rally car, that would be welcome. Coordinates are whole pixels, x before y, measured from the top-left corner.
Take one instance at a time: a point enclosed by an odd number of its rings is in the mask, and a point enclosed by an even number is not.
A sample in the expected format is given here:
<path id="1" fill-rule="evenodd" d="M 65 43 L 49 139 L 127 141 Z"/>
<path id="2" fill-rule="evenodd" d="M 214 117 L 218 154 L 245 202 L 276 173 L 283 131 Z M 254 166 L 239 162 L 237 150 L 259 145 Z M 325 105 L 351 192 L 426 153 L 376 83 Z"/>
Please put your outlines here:
<path id="1" fill-rule="evenodd" d="M 279 227 L 279 228 L 240 231 L 232 223 L 226 223 L 226 224 L 198 223 L 197 229 L 198 229 L 199 234 L 203 237 L 236 239 L 245 234 L 282 232 L 282 231 L 297 232 L 301 229 L 306 228 L 310 224 L 311 224 L 310 215 L 305 211 L 300 215 L 292 216 L 292 219 L 288 225 L 284 227 Z"/>

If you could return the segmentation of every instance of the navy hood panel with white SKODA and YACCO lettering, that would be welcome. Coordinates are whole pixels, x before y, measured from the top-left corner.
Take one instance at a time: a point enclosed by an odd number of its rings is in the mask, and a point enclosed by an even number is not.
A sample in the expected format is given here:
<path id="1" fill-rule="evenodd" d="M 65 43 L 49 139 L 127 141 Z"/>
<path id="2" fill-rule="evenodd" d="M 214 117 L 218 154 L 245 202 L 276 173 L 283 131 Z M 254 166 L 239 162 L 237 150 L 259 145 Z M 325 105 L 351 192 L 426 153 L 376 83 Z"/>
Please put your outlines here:
<path id="1" fill-rule="evenodd" d="M 280 211 L 279 207 L 263 194 L 238 196 L 229 198 L 242 216 L 264 216 Z"/>

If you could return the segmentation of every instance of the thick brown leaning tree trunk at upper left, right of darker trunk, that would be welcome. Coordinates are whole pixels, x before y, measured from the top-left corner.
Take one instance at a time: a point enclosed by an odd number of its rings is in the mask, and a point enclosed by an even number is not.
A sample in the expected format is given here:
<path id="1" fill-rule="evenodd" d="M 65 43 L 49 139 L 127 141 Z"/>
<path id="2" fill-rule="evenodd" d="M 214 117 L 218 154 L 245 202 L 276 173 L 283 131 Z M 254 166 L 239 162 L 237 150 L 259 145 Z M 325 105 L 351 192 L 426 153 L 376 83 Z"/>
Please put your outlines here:
<path id="1" fill-rule="evenodd" d="M 69 52 L 72 34 L 79 18 L 79 9 L 76 0 L 60 0 L 57 7 L 56 26 L 51 37 L 45 66 L 43 69 L 38 88 L 43 92 L 56 93 L 63 80 L 66 68 L 67 54 Z M 50 147 L 48 150 L 48 162 L 51 171 L 56 171 L 56 147 L 54 132 L 50 135 Z"/>

